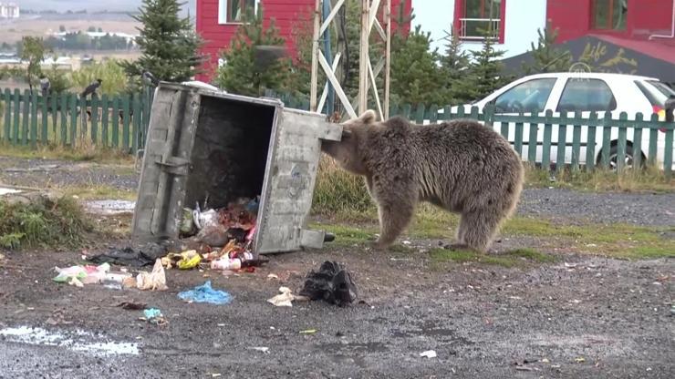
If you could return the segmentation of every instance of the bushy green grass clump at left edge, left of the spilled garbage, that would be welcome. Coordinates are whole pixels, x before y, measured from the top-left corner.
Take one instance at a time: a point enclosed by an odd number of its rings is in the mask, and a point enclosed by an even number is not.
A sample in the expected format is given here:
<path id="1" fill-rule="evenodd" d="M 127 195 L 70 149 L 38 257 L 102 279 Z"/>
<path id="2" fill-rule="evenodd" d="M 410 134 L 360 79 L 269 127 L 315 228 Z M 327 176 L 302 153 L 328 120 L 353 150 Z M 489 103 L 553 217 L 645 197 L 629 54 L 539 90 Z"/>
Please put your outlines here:
<path id="1" fill-rule="evenodd" d="M 93 227 L 76 200 L 39 198 L 29 204 L 0 200 L 0 247 L 76 248 Z"/>

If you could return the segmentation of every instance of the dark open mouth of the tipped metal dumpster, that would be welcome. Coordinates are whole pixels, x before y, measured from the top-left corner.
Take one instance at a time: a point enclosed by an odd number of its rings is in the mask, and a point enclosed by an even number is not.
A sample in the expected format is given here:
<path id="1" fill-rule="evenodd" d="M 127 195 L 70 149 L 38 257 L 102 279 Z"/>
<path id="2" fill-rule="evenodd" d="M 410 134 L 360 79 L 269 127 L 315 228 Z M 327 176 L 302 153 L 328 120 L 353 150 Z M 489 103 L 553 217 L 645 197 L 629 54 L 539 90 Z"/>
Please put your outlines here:
<path id="1" fill-rule="evenodd" d="M 185 204 L 227 206 L 261 194 L 275 107 L 221 97 L 202 97 L 192 146 Z"/>

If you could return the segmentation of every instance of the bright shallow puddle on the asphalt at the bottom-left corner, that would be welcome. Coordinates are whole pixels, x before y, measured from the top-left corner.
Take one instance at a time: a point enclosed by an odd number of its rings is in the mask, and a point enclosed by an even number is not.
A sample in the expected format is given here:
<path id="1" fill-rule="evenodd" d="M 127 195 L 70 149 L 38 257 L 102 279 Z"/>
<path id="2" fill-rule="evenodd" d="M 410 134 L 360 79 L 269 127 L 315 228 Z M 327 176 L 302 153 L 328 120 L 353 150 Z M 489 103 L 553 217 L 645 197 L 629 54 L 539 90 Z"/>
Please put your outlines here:
<path id="1" fill-rule="evenodd" d="M 140 353 L 138 343 L 116 343 L 107 341 L 107 339 L 105 339 L 106 341 L 95 341 L 104 338 L 84 331 L 59 332 L 19 326 L 0 330 L 0 336 L 7 342 L 66 347 L 75 352 L 92 355 L 138 355 Z"/>

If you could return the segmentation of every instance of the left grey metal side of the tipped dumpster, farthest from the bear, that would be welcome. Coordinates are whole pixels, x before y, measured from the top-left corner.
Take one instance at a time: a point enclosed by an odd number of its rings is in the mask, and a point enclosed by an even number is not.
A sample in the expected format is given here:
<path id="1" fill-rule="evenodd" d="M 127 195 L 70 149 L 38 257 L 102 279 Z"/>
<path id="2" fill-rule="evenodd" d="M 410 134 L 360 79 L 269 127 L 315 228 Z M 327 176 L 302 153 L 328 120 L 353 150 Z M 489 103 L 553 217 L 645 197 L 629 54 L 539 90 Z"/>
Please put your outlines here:
<path id="1" fill-rule="evenodd" d="M 194 90 L 158 87 L 140 172 L 134 238 L 178 237 L 199 101 Z"/>

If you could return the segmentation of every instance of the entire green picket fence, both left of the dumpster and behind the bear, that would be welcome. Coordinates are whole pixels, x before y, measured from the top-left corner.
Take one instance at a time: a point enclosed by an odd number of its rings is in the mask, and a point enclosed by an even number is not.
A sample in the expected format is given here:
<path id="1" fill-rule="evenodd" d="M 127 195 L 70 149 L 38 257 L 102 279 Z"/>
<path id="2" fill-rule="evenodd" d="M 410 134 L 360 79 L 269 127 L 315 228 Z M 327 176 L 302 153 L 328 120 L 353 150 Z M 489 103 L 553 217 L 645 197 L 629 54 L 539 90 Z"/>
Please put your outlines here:
<path id="1" fill-rule="evenodd" d="M 146 87 L 133 96 L 81 98 L 55 94 L 47 98 L 26 90 L 0 94 L 4 115 L 0 119 L 0 139 L 12 145 L 36 147 L 39 144 L 72 145 L 81 136 L 94 144 L 136 152 L 143 149 L 150 120 L 154 90 Z M 306 101 L 274 93 L 288 108 L 308 109 Z M 47 101 L 45 101 L 47 100 Z M 607 113 L 574 115 L 533 112 L 520 115 L 495 114 L 493 108 L 464 113 L 459 107 L 439 108 L 392 105 L 391 116 L 404 116 L 423 124 L 456 118 L 472 118 L 492 126 L 514 146 L 521 157 L 543 168 L 592 170 L 596 166 L 623 169 L 626 158 L 632 165 L 656 164 L 670 179 L 673 169 L 673 129 L 675 123 L 659 121 L 658 115 L 645 117 Z M 564 147 L 563 149 L 559 149 Z M 560 164 L 563 162 L 563 164 Z"/>

